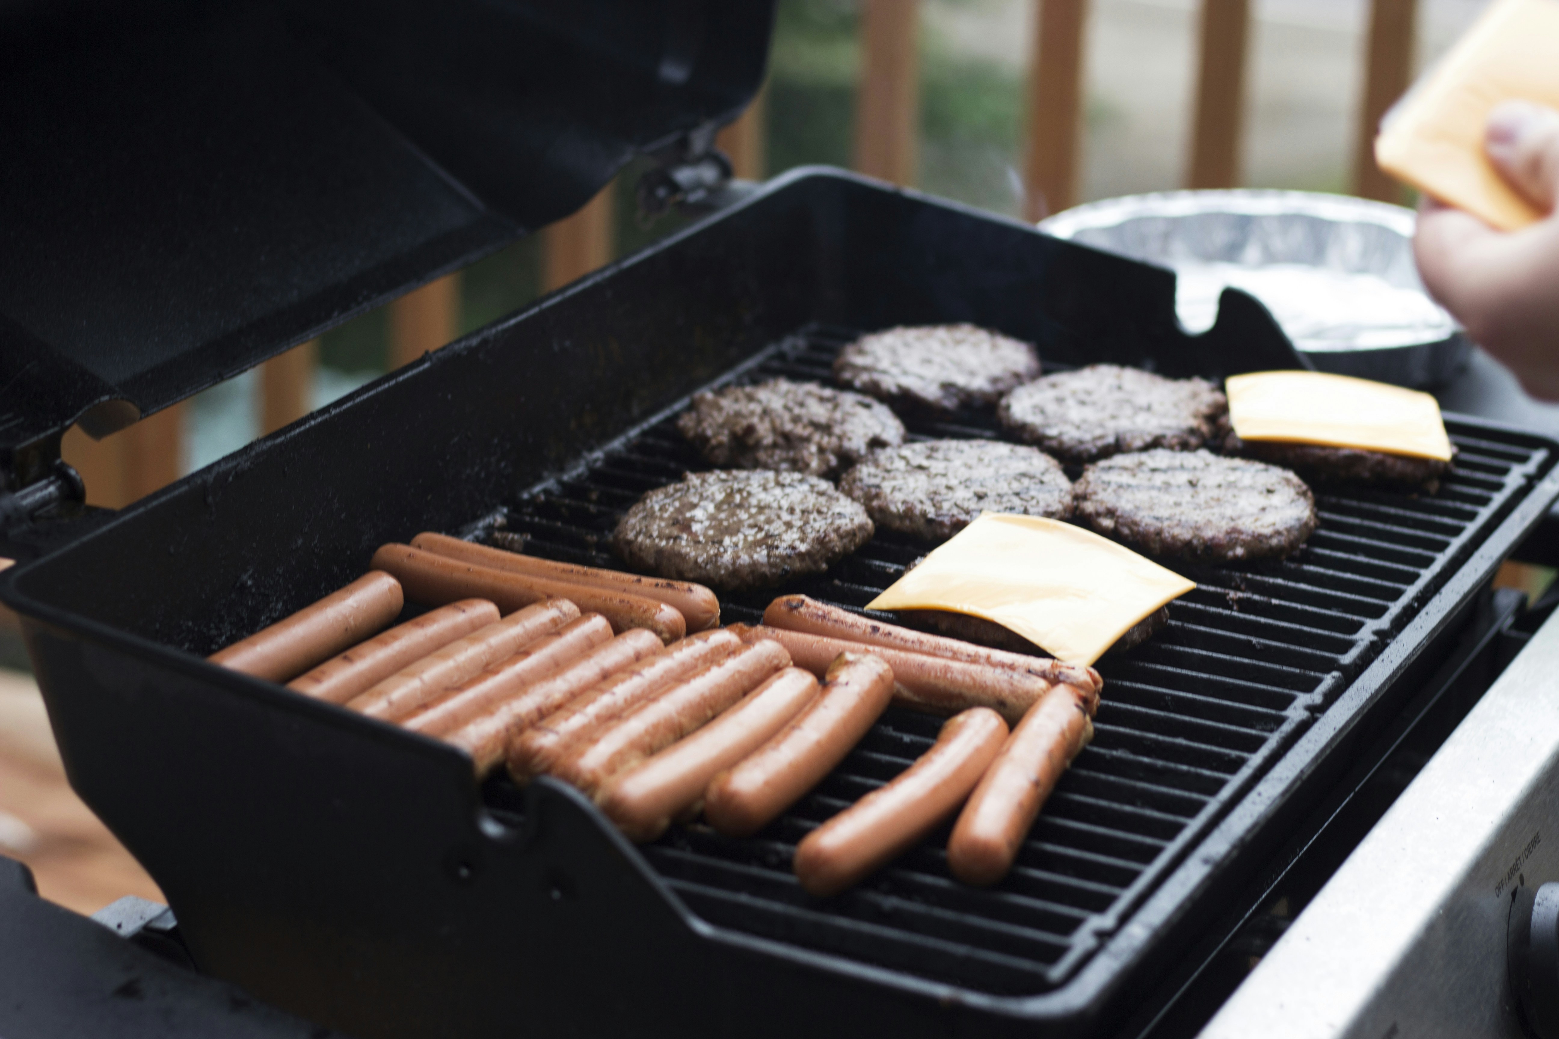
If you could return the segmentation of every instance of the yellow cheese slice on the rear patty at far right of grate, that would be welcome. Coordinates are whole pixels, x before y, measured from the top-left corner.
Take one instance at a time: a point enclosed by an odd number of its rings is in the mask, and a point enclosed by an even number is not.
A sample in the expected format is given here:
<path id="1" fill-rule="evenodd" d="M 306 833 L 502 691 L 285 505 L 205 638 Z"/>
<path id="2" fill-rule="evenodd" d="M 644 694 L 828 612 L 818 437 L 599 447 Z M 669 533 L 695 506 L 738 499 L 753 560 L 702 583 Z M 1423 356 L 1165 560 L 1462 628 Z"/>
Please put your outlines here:
<path id="1" fill-rule="evenodd" d="M 1439 402 L 1426 393 L 1322 372 L 1250 372 L 1224 380 L 1243 441 L 1358 447 L 1451 460 Z"/>

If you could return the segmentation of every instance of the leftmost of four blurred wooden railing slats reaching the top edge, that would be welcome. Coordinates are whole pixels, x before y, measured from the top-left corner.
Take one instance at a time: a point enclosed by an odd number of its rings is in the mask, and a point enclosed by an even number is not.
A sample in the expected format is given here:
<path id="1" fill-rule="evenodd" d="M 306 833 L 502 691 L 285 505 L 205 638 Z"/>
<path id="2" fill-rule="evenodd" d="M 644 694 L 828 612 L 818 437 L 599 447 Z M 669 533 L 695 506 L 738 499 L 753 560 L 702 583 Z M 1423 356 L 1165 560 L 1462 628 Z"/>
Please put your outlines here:
<path id="1" fill-rule="evenodd" d="M 864 0 L 854 168 L 914 184 L 920 136 L 918 0 Z"/>

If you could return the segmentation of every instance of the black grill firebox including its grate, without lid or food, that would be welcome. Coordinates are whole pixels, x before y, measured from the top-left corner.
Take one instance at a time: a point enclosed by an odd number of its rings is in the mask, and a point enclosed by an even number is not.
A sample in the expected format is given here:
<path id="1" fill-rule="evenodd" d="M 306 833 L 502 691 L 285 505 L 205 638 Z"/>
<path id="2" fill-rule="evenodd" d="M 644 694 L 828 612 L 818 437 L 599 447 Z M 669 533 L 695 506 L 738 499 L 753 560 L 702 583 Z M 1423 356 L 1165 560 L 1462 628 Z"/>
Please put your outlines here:
<path id="1" fill-rule="evenodd" d="M 1168 271 L 780 178 L 0 575 L 72 784 L 203 970 L 349 1034 L 1096 1034 L 1439 664 L 1559 495 L 1559 444 L 1453 417 L 1437 495 L 1322 495 L 1299 556 L 1191 573 L 1171 626 L 1102 662 L 1096 741 L 990 891 L 954 885 L 935 838 L 831 902 L 789 879 L 800 835 L 901 770 L 924 717 L 892 712 L 756 840 L 636 849 L 569 788 L 479 788 L 438 741 L 201 659 L 422 530 L 502 517 L 608 562 L 616 516 L 698 464 L 666 425 L 692 391 L 822 379 L 851 330 L 948 321 L 1052 371 L 1297 363 L 1247 296 L 1188 336 Z M 859 608 L 918 551 L 879 536 L 795 590 Z"/>

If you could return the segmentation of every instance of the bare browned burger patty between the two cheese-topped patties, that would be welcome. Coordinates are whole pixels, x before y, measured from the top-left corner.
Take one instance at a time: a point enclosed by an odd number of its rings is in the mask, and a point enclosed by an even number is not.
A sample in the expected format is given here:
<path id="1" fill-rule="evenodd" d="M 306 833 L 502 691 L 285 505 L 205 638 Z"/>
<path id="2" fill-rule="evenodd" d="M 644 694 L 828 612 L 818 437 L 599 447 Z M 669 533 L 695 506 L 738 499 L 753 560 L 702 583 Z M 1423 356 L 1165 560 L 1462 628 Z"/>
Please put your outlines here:
<path id="1" fill-rule="evenodd" d="M 1084 469 L 1077 516 L 1154 556 L 1286 556 L 1316 530 L 1310 488 L 1286 469 L 1205 450 L 1116 455 Z"/>

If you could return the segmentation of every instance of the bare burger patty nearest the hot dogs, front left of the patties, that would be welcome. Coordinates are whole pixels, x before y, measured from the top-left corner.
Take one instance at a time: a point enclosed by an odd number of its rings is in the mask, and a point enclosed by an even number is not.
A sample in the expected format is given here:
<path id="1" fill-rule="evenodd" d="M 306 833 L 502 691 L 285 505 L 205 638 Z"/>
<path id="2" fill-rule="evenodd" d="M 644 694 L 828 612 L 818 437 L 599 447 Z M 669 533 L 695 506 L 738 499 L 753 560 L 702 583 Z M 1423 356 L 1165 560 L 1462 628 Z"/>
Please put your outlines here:
<path id="1" fill-rule="evenodd" d="M 822 573 L 871 539 L 871 517 L 798 472 L 688 474 L 624 514 L 611 547 L 628 565 L 720 589 Z"/>

